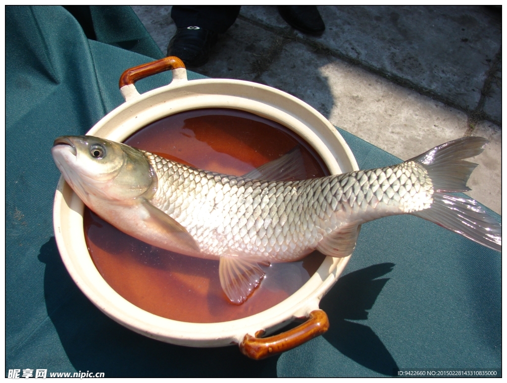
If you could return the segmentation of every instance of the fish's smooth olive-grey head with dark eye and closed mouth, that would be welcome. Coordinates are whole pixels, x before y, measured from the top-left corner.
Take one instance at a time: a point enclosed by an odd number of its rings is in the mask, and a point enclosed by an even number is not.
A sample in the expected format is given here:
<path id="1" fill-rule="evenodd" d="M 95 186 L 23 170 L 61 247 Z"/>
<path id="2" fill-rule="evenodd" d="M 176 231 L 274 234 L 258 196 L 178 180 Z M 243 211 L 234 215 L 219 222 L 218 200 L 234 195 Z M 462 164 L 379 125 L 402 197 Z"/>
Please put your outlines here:
<path id="1" fill-rule="evenodd" d="M 88 206 L 93 198 L 125 201 L 155 191 L 157 179 L 138 149 L 94 136 L 62 136 L 51 154 L 65 181 Z"/>

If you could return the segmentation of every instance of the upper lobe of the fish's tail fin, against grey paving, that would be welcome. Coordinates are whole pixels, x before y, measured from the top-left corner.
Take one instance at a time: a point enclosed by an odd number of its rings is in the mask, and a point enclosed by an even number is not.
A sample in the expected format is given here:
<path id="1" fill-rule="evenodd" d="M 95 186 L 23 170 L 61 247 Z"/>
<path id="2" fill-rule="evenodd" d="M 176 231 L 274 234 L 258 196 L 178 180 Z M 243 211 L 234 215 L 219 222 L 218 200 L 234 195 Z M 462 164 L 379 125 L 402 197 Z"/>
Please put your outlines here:
<path id="1" fill-rule="evenodd" d="M 463 159 L 480 155 L 488 142 L 482 137 L 462 137 L 434 147 L 407 162 L 422 165 L 435 192 L 466 192 L 470 190 L 466 182 L 477 164 Z"/>

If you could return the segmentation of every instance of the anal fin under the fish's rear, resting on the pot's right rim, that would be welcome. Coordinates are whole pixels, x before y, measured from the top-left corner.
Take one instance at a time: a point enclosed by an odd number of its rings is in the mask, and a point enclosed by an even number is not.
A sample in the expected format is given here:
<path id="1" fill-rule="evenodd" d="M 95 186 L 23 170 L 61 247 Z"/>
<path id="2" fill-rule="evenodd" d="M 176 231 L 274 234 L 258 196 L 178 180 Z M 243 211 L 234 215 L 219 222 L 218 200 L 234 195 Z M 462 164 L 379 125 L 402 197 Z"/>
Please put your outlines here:
<path id="1" fill-rule="evenodd" d="M 334 233 L 324 237 L 317 245 L 317 250 L 331 257 L 347 257 L 354 251 L 357 241 L 359 222 L 341 226 Z"/>

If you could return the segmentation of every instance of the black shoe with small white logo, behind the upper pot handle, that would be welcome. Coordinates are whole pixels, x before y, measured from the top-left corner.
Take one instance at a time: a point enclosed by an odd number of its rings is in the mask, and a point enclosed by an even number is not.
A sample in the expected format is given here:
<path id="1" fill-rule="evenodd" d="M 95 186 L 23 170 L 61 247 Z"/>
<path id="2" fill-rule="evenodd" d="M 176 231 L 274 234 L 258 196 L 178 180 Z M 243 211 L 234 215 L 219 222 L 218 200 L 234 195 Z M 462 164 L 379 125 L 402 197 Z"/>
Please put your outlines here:
<path id="1" fill-rule="evenodd" d="M 167 56 L 176 56 L 187 67 L 197 67 L 208 62 L 209 51 L 216 44 L 218 33 L 190 26 L 178 28 L 167 47 Z"/>

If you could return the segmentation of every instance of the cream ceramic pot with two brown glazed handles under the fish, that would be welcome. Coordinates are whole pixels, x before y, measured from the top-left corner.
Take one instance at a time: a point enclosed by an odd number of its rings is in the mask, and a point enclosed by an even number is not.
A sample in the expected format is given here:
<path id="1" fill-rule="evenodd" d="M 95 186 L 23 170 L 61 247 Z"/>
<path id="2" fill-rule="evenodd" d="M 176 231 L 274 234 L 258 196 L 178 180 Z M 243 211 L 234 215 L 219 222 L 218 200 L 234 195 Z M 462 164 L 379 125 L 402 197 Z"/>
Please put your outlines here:
<path id="1" fill-rule="evenodd" d="M 140 95 L 134 82 L 172 69 L 173 80 Z M 333 174 L 358 170 L 345 140 L 314 108 L 268 86 L 225 79 L 187 81 L 186 69 L 176 58 L 165 58 L 124 72 L 120 80 L 125 103 L 108 113 L 87 134 L 123 141 L 142 127 L 174 113 L 200 108 L 232 108 L 257 114 L 292 129 L 320 155 Z M 70 276 L 107 316 L 140 334 L 193 347 L 240 344 L 252 358 L 298 346 L 327 330 L 319 301 L 337 281 L 349 257 L 326 257 L 310 280 L 293 295 L 261 313 L 229 322 L 188 323 L 141 310 L 113 290 L 97 271 L 88 253 L 83 231 L 84 205 L 60 178 L 54 200 L 54 229 L 58 249 Z M 260 338 L 295 319 L 307 322 L 275 337 Z"/>

